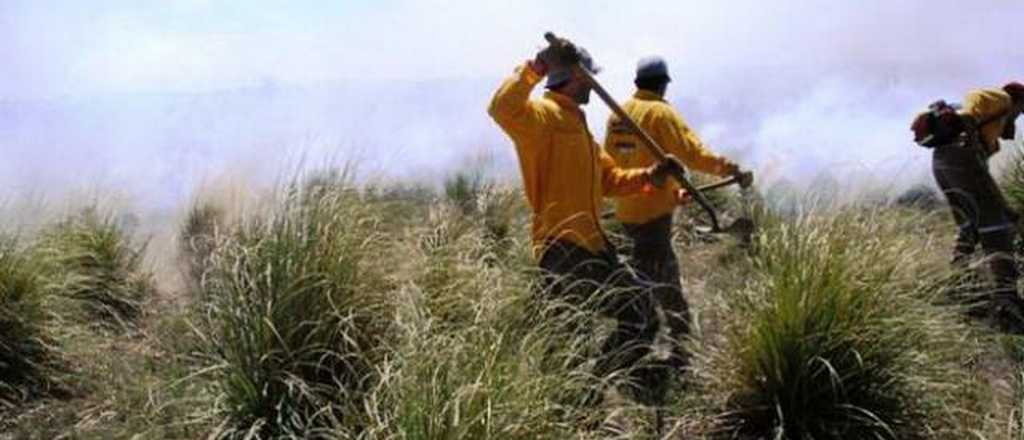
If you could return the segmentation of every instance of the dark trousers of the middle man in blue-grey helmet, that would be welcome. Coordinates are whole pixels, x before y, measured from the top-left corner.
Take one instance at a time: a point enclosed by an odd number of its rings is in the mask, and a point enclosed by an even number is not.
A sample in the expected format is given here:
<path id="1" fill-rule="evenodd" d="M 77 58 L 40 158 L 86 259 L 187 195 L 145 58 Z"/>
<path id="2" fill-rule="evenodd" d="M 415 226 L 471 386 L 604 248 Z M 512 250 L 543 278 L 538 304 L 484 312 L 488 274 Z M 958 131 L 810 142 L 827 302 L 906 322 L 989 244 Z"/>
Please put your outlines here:
<path id="1" fill-rule="evenodd" d="M 690 308 L 679 283 L 679 261 L 672 250 L 672 215 L 623 226 L 633 245 L 630 265 L 654 285 L 654 297 L 665 313 L 669 336 L 678 347 L 690 333 Z M 676 354 L 673 363 L 681 366 L 684 359 L 681 353 Z"/>

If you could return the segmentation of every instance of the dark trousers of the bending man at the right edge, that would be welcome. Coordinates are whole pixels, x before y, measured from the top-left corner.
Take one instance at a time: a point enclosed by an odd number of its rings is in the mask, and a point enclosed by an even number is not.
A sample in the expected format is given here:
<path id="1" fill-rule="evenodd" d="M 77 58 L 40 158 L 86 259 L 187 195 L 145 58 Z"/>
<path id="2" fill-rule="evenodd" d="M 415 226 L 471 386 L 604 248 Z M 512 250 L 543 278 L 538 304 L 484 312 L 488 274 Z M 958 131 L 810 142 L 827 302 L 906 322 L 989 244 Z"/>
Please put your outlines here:
<path id="1" fill-rule="evenodd" d="M 1017 234 L 1002 192 L 976 148 L 936 147 L 932 156 L 935 181 L 949 202 L 958 232 L 954 264 L 966 264 L 981 245 L 995 278 L 991 300 L 1019 303 L 1017 263 L 1013 243 Z"/>

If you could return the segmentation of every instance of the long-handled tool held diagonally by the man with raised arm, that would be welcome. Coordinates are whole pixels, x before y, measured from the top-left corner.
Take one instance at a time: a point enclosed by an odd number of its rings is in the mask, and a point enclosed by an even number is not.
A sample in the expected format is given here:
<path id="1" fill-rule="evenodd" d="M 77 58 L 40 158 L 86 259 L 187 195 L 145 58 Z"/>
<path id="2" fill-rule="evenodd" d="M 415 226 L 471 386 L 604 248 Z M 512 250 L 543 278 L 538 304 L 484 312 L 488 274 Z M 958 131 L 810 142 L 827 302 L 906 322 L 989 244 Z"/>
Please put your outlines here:
<path id="1" fill-rule="evenodd" d="M 551 32 L 544 34 L 544 39 L 547 40 L 549 44 L 556 47 L 568 43 L 568 40 L 560 39 L 556 37 L 554 33 Z M 640 128 L 640 126 L 637 125 L 637 123 L 633 121 L 633 119 L 630 118 L 629 115 L 626 114 L 626 111 L 624 111 L 623 107 L 620 106 L 617 102 L 615 102 L 615 99 L 612 98 L 610 94 L 608 94 L 607 90 L 605 90 L 604 87 L 602 87 L 601 84 L 598 83 L 596 79 L 594 79 L 594 76 L 591 75 L 589 71 L 587 71 L 586 69 L 584 69 L 583 65 L 580 64 L 579 60 L 573 61 L 570 68 L 578 75 L 584 78 L 587 81 L 587 83 L 590 84 L 591 88 L 594 89 L 594 92 L 596 92 L 597 95 L 601 98 L 601 100 L 604 101 L 604 103 L 608 105 L 609 108 L 611 108 L 611 112 L 613 112 L 616 116 L 618 116 L 622 122 L 625 123 L 630 130 L 635 132 L 640 137 L 640 140 L 642 141 L 644 146 L 647 147 L 647 150 L 654 157 L 654 160 L 656 160 L 658 163 L 664 163 L 667 160 L 668 155 L 666 155 L 665 148 L 662 148 L 662 146 L 658 145 L 657 142 L 652 137 L 650 137 L 649 134 L 647 134 L 647 132 L 645 132 L 642 128 Z M 700 208 L 703 209 L 703 211 L 708 214 L 708 217 L 711 220 L 710 232 L 715 232 L 715 233 L 729 232 L 729 233 L 740 233 L 740 234 L 750 233 L 750 229 L 753 226 L 753 222 L 751 222 L 750 220 L 745 221 L 737 220 L 732 225 L 723 228 L 718 221 L 718 213 L 715 211 L 715 207 L 712 206 L 710 201 L 708 201 L 708 197 L 705 196 L 703 192 L 701 192 L 701 189 L 694 186 L 693 183 L 691 183 L 690 180 L 686 177 L 686 170 L 677 169 L 672 174 L 672 177 L 676 180 L 676 182 L 679 183 L 679 186 L 682 186 L 683 189 L 686 189 L 686 191 L 690 194 L 690 196 L 693 197 L 693 201 L 695 201 L 697 205 L 699 205 Z M 738 183 L 739 182 L 738 178 L 735 179 L 737 180 L 730 181 L 732 179 L 727 179 L 719 183 L 721 183 L 721 186 L 729 185 L 732 183 Z M 749 179 L 753 179 L 753 177 L 750 177 Z"/>

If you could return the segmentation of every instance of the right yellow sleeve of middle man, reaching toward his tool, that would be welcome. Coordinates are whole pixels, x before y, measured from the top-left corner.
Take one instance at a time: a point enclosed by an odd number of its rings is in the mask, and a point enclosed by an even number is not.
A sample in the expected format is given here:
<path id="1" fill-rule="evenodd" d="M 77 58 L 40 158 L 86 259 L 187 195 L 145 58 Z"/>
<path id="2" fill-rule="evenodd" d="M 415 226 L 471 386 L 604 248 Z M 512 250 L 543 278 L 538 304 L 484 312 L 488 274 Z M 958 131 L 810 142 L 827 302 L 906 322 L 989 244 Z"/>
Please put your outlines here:
<path id="1" fill-rule="evenodd" d="M 654 135 L 662 147 L 688 168 L 716 176 L 726 176 L 735 171 L 736 166 L 711 152 L 672 107 L 666 106 L 658 112 L 656 124 Z"/>

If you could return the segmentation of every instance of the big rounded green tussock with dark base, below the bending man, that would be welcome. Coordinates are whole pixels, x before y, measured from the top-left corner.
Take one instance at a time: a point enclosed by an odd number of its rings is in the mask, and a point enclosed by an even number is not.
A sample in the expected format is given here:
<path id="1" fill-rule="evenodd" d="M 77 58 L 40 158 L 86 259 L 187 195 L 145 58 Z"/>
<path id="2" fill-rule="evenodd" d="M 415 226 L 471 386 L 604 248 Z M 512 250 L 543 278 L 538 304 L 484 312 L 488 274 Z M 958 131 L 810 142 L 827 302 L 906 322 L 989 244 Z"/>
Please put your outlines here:
<path id="1" fill-rule="evenodd" d="M 901 238 L 907 224 L 809 215 L 759 236 L 753 279 L 731 310 L 745 318 L 710 367 L 726 376 L 715 390 L 728 396 L 724 432 L 907 439 L 947 427 L 941 411 L 959 410 L 950 390 L 969 382 L 955 372 L 969 332 L 931 304 L 937 272 Z"/>

